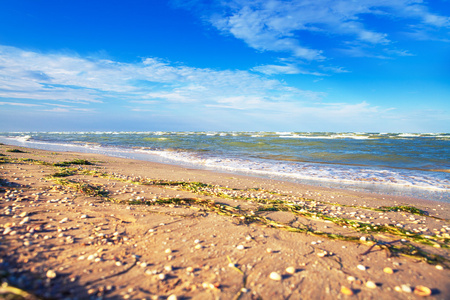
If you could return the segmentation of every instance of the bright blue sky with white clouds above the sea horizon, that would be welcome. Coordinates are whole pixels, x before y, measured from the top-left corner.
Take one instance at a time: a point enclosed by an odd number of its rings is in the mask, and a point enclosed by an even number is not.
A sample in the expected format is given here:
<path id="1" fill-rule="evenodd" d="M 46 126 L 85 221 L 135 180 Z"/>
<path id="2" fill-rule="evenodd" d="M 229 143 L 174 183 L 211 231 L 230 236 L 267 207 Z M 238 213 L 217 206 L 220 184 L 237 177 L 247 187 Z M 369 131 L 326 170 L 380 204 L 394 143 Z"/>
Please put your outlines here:
<path id="1" fill-rule="evenodd" d="M 450 1 L 0 1 L 0 131 L 450 132 Z"/>

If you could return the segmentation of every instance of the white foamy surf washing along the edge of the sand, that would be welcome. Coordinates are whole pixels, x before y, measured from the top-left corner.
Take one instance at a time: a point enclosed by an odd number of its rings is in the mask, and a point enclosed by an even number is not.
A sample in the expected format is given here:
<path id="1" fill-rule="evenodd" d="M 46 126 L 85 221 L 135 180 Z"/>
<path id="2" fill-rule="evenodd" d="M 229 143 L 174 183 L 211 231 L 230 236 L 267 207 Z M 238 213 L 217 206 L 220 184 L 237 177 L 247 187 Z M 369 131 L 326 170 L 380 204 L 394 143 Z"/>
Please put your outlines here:
<path id="1" fill-rule="evenodd" d="M 154 163 L 161 163 L 164 165 L 177 166 L 181 168 L 194 168 L 203 171 L 211 171 L 217 173 L 225 173 L 225 174 L 233 174 L 244 177 L 255 177 L 261 179 L 275 180 L 280 182 L 290 182 L 293 184 L 304 184 L 307 186 L 314 186 L 318 188 L 329 188 L 329 189 L 342 189 L 342 190 L 352 190 L 356 192 L 362 193 L 370 193 L 370 194 L 378 194 L 384 195 L 388 197 L 406 197 L 417 200 L 425 200 L 425 201 L 437 201 L 440 203 L 450 203 L 450 192 L 447 190 L 437 189 L 433 190 L 427 187 L 420 186 L 395 186 L 390 184 L 378 184 L 378 183 L 370 183 L 370 182 L 352 182 L 349 180 L 335 180 L 335 179 L 325 179 L 325 178 L 295 178 L 290 177 L 289 175 L 273 175 L 261 173 L 258 171 L 244 171 L 244 170 L 229 170 L 228 168 L 218 168 L 211 166 L 204 166 L 195 163 L 188 163 L 185 161 L 176 161 L 173 159 L 168 159 L 165 157 L 161 157 L 152 153 L 144 153 L 141 151 L 136 151 L 134 148 L 130 149 L 113 149 L 108 147 L 101 147 L 99 149 L 94 148 L 86 148 L 81 145 L 71 145 L 71 144 L 53 144 L 47 142 L 39 142 L 39 141 L 20 141 L 15 139 L 10 139 L 7 137 L 0 137 L 0 142 L 6 142 L 11 146 L 25 147 L 30 149 L 39 149 L 45 151 L 61 151 L 61 152 L 74 152 L 74 153 L 91 153 L 98 155 L 106 155 L 109 157 L 117 157 L 124 159 L 132 159 L 139 161 L 147 161 Z M 25 143 L 31 143 L 31 145 L 26 145 Z"/>

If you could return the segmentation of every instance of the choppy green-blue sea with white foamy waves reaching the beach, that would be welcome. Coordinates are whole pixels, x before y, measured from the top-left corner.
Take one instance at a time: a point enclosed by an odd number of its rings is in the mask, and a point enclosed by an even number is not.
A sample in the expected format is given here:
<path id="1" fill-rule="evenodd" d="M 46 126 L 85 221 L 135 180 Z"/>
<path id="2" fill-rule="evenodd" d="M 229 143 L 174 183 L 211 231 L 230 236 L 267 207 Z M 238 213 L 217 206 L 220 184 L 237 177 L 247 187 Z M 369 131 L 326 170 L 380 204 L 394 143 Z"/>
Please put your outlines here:
<path id="1" fill-rule="evenodd" d="M 0 142 L 450 202 L 450 134 L 20 132 Z"/>

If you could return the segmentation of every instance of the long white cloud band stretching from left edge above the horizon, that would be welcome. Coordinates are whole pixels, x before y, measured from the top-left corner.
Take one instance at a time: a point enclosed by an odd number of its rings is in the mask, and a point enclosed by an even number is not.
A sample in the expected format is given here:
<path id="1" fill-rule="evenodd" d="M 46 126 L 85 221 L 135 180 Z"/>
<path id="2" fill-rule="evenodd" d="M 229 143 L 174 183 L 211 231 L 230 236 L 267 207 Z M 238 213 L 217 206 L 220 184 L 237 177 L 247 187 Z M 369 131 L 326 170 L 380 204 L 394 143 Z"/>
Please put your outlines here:
<path id="1" fill-rule="evenodd" d="M 177 66 L 157 58 L 122 63 L 0 46 L 0 97 L 4 98 L 71 105 L 121 99 L 204 106 L 242 95 L 269 102 L 315 101 L 323 93 L 299 90 L 247 71 Z"/>

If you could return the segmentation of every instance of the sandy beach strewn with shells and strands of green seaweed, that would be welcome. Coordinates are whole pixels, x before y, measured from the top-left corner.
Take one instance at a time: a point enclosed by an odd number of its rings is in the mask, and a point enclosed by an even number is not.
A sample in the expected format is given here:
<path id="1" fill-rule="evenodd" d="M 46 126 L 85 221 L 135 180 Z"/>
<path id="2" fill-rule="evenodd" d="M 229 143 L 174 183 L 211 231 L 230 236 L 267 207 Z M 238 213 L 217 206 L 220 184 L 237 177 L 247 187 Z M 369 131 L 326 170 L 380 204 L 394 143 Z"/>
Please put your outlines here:
<path id="1" fill-rule="evenodd" d="M 449 208 L 0 145 L 0 297 L 449 299 Z"/>

